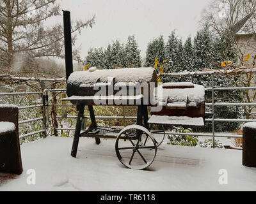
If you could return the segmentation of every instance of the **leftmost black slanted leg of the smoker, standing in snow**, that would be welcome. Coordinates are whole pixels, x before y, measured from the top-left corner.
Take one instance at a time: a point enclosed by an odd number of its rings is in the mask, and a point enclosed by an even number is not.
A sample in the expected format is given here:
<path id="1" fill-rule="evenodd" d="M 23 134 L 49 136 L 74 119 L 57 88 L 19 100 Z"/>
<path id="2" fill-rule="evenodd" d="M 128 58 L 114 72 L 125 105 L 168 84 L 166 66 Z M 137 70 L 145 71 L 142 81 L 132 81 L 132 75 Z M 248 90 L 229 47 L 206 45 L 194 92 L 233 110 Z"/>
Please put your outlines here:
<path id="1" fill-rule="evenodd" d="M 76 154 L 77 154 L 77 147 L 79 143 L 83 115 L 84 115 L 84 105 L 79 105 L 79 112 L 78 112 L 77 122 L 76 122 L 76 131 L 75 131 L 75 136 L 74 136 L 72 150 L 71 150 L 72 157 L 76 157 Z"/>

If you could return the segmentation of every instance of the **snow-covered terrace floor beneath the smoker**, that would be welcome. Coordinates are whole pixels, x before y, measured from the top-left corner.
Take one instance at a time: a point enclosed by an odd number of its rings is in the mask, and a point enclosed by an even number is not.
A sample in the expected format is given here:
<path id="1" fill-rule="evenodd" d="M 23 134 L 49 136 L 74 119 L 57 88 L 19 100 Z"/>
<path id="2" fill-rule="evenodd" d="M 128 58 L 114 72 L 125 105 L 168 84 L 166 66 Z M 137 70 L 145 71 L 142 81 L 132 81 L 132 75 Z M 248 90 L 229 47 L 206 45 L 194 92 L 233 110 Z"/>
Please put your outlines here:
<path id="1" fill-rule="evenodd" d="M 115 140 L 96 145 L 81 138 L 77 158 L 72 138 L 52 137 L 21 146 L 22 175 L 0 174 L 0 191 L 256 191 L 256 168 L 242 165 L 242 151 L 163 144 L 148 170 L 127 169 L 115 154 Z M 26 171 L 35 169 L 36 185 Z M 219 170 L 228 172 L 220 185 Z M 2 180 L 2 182 L 1 182 Z"/>

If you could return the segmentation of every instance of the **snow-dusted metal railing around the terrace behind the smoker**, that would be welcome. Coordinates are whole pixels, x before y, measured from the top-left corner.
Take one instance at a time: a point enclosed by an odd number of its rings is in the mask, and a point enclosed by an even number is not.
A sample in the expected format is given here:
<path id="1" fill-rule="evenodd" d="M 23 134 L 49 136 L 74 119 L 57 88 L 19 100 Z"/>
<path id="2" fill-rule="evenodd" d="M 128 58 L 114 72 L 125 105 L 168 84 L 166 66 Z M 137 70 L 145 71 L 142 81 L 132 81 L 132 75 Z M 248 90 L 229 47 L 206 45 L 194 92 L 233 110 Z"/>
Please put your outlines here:
<path id="1" fill-rule="evenodd" d="M 202 74 L 199 74 L 202 75 Z M 209 75 L 208 73 L 205 75 Z M 193 75 L 193 76 L 197 76 L 197 75 Z M 179 75 L 175 74 L 174 77 L 179 77 Z M 186 77 L 184 75 L 180 75 L 180 77 Z M 191 76 L 190 76 L 191 77 Z M 212 107 L 212 118 L 210 119 L 205 119 L 205 122 L 211 122 L 212 123 L 212 132 L 211 133 L 172 133 L 172 132 L 168 132 L 167 134 L 170 135 L 191 135 L 191 136 L 207 136 L 207 137 L 212 137 L 212 142 L 213 142 L 213 147 L 215 146 L 214 144 L 214 138 L 216 137 L 229 137 L 229 138 L 242 138 L 241 135 L 226 135 L 226 134 L 222 134 L 222 133 L 216 133 L 215 132 L 215 126 L 216 126 L 216 122 L 256 122 L 256 119 L 216 119 L 214 117 L 214 107 L 216 106 L 256 106 L 256 103 L 214 103 L 214 91 L 235 91 L 235 90 L 256 90 L 256 87 L 214 87 L 214 75 L 210 75 L 209 77 L 211 77 L 212 80 L 212 86 L 211 87 L 207 87 L 205 89 L 205 91 L 211 91 L 211 103 L 205 103 L 205 106 L 211 106 Z M 28 80 L 26 78 L 26 80 Z M 34 80 L 34 78 L 33 78 Z M 54 80 L 54 79 L 49 79 L 51 82 L 62 82 L 63 78 L 61 78 L 60 80 Z M 19 124 L 26 124 L 29 122 L 33 122 L 36 120 L 42 120 L 43 122 L 43 128 L 38 130 L 38 131 L 34 131 L 31 133 L 27 133 L 24 135 L 20 135 L 20 138 L 26 138 L 28 136 L 31 135 L 36 135 L 38 133 L 44 133 L 44 135 L 46 136 L 47 134 L 47 121 L 46 120 L 46 115 L 45 115 L 45 110 L 47 109 L 47 106 L 51 106 L 52 103 L 49 103 L 49 93 L 50 92 L 65 92 L 66 89 L 45 89 L 44 92 L 2 92 L 0 93 L 0 97 L 1 96 L 14 96 L 14 95 L 28 95 L 28 94 L 40 94 L 41 98 L 42 98 L 42 103 L 38 103 L 36 105 L 29 105 L 29 106 L 19 106 L 19 110 L 22 109 L 29 109 L 29 108 L 43 108 L 43 115 L 42 117 L 36 117 L 33 119 L 27 119 L 27 120 L 22 120 L 19 121 Z M 63 104 L 61 103 L 56 103 L 56 106 L 63 106 Z M 72 104 L 68 103 L 65 104 L 67 106 L 73 106 Z M 90 116 L 85 116 L 88 119 L 90 119 Z M 56 115 L 56 118 L 61 118 L 60 115 Z M 68 115 L 67 118 L 69 119 L 76 119 L 76 116 L 72 116 L 72 115 Z M 124 126 L 126 124 L 125 120 L 135 120 L 136 116 L 126 116 L 125 115 L 125 108 L 124 108 L 124 115 L 122 116 L 96 116 L 96 119 L 123 119 L 124 121 Z M 74 128 L 59 128 L 58 126 L 54 127 L 53 126 L 53 130 L 54 131 L 63 131 L 63 130 L 71 130 L 73 131 Z"/>

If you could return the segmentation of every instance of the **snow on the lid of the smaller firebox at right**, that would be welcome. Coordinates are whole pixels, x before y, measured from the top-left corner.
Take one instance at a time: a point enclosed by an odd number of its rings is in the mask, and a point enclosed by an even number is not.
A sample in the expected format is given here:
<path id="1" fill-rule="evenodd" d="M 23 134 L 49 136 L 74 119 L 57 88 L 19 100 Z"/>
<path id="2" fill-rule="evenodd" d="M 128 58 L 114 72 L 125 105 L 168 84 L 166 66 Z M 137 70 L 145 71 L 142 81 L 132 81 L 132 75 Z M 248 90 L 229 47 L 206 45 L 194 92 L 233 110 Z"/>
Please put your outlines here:
<path id="1" fill-rule="evenodd" d="M 205 100 L 205 89 L 202 85 L 193 85 L 194 88 L 186 89 L 163 89 L 163 85 L 161 85 L 157 87 L 158 101 L 163 103 L 187 103 L 187 106 L 192 107 L 198 106 Z"/>

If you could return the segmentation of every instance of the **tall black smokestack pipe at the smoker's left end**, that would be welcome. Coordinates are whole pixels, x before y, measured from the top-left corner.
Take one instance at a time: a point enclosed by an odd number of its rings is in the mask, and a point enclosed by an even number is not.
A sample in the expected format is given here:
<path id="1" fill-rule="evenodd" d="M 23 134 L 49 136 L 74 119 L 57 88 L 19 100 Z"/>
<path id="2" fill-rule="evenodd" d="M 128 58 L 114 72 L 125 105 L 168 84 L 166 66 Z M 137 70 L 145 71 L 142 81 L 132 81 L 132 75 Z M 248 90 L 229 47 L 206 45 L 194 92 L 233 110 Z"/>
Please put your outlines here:
<path id="1" fill-rule="evenodd" d="M 63 11 L 66 82 L 73 72 L 70 11 Z"/>

